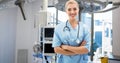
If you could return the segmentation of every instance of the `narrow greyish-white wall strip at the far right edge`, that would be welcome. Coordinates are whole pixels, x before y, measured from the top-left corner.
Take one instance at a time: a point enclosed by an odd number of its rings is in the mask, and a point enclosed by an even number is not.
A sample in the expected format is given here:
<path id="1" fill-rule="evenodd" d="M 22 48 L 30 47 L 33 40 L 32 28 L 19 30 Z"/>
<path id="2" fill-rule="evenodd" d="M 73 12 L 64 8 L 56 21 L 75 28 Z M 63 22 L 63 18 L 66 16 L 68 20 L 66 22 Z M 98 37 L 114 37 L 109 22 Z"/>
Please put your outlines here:
<path id="1" fill-rule="evenodd" d="M 120 7 L 113 10 L 113 54 L 120 56 Z"/>

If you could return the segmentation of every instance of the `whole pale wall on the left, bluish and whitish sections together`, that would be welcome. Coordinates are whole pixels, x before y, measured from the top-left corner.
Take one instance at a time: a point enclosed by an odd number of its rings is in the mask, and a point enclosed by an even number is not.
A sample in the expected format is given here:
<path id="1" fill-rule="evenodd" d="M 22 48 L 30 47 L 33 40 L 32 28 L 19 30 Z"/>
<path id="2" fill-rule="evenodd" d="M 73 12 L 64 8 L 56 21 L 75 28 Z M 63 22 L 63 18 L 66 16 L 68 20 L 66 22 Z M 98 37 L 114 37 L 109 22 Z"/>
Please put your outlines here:
<path id="1" fill-rule="evenodd" d="M 41 0 L 26 3 L 26 21 L 18 7 L 0 10 L 0 63 L 17 63 L 18 49 L 27 49 L 27 63 L 33 63 L 33 43 L 38 40 L 38 28 L 34 28 L 34 21 L 41 7 Z"/>

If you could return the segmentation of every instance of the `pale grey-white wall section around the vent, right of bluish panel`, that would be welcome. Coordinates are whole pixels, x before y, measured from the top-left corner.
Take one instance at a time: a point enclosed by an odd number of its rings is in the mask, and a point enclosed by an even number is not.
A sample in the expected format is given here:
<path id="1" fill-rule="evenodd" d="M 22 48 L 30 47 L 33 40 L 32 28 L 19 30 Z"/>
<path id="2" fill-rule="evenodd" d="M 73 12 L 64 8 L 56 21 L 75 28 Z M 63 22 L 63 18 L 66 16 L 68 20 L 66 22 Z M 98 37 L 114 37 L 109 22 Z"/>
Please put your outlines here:
<path id="1" fill-rule="evenodd" d="M 38 28 L 34 27 L 35 14 L 41 9 L 42 2 L 37 0 L 24 5 L 25 16 L 27 20 L 23 20 L 20 10 L 17 15 L 17 31 L 16 31 L 16 59 L 19 49 L 28 50 L 28 63 L 33 63 L 33 44 L 38 40 Z M 19 8 L 18 8 L 19 9 Z"/>

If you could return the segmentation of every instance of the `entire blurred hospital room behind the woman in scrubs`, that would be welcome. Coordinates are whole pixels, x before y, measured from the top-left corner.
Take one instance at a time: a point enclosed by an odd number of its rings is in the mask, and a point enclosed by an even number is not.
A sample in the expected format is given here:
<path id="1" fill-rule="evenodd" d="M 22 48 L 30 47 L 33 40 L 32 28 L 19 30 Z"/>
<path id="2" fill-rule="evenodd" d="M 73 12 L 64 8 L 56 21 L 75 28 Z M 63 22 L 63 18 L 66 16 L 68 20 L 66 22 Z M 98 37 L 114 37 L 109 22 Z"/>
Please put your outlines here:
<path id="1" fill-rule="evenodd" d="M 0 0 L 0 63 L 56 63 L 53 34 L 67 21 L 66 1 Z M 120 63 L 120 0 L 76 1 L 91 33 L 88 63 Z"/>

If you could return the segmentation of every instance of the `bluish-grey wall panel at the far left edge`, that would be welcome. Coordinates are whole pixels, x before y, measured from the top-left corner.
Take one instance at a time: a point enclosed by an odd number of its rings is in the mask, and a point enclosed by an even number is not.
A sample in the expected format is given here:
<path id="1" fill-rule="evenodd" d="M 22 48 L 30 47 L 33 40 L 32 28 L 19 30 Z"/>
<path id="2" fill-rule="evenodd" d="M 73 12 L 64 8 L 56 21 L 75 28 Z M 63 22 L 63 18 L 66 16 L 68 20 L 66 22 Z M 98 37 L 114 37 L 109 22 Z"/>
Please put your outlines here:
<path id="1" fill-rule="evenodd" d="M 0 63 L 14 63 L 17 8 L 0 10 Z"/>

